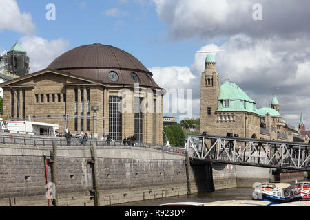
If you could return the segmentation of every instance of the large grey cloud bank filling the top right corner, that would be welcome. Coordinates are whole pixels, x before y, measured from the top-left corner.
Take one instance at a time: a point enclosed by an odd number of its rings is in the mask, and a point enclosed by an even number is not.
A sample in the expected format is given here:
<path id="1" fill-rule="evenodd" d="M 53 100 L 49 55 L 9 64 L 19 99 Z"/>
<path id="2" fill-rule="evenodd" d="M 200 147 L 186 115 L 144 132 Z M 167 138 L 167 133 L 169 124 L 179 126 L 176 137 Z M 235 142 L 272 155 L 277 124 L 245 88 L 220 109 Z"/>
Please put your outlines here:
<path id="1" fill-rule="evenodd" d="M 172 39 L 223 39 L 235 34 L 253 38 L 309 34 L 307 0 L 154 0 Z M 254 21 L 253 5 L 262 5 L 262 21 Z"/>

